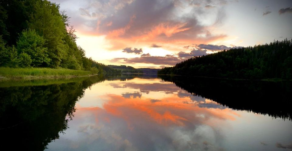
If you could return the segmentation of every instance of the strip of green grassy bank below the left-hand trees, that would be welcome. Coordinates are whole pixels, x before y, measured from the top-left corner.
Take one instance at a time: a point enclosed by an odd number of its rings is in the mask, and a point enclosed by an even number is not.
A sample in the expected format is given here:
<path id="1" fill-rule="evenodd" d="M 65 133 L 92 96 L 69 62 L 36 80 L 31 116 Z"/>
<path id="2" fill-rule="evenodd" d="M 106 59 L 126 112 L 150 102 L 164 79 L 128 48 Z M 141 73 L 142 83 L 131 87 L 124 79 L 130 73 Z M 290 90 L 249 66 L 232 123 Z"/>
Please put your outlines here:
<path id="1" fill-rule="evenodd" d="M 63 68 L 7 68 L 0 67 L 0 79 L 48 79 L 58 77 L 90 76 L 89 71 Z"/>

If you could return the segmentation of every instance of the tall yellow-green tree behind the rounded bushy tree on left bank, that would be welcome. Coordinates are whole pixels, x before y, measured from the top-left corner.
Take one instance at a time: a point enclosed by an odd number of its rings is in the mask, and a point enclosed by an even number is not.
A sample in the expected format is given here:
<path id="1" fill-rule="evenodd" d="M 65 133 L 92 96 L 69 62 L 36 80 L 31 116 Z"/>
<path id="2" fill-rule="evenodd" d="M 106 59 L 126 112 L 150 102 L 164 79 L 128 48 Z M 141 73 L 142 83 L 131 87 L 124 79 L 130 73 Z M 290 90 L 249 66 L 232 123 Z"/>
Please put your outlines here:
<path id="1" fill-rule="evenodd" d="M 64 37 L 66 25 L 59 12 L 59 5 L 47 0 L 36 2 L 36 12 L 32 15 L 29 23 L 31 29 L 43 36 L 46 40 L 45 47 L 48 48 L 48 55 L 51 59 L 49 66 L 58 67 L 66 55 Z"/>

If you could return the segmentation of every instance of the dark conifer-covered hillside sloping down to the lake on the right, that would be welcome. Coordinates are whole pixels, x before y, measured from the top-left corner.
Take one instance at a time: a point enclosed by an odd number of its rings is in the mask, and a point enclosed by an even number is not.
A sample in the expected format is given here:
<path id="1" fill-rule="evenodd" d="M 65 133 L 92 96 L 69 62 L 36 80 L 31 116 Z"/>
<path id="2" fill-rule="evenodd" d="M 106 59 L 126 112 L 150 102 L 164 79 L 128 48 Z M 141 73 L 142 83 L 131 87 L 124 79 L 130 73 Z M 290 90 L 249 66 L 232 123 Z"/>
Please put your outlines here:
<path id="1" fill-rule="evenodd" d="M 285 39 L 265 45 L 194 56 L 173 67 L 165 67 L 158 71 L 158 74 L 235 79 L 292 79 L 292 43 L 291 40 Z"/>

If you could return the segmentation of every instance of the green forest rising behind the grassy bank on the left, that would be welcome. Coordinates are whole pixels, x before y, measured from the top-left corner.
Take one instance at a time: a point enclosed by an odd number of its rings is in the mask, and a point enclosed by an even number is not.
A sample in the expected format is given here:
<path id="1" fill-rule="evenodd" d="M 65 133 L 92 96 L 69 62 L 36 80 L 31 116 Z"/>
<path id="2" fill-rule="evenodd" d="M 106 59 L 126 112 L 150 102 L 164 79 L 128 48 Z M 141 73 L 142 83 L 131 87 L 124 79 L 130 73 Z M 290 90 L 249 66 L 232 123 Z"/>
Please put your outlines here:
<path id="1" fill-rule="evenodd" d="M 47 0 L 0 1 L 0 66 L 119 72 L 85 57 L 70 17 Z"/>

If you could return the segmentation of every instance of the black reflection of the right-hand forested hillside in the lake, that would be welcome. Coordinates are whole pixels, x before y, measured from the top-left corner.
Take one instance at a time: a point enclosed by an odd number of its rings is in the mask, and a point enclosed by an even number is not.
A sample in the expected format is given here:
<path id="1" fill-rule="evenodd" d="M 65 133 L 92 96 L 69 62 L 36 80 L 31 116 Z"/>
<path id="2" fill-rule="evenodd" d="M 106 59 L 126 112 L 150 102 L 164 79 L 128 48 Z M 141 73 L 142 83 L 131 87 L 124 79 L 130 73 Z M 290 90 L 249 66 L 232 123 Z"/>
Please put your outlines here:
<path id="1" fill-rule="evenodd" d="M 164 81 L 233 109 L 292 119 L 292 82 L 160 76 Z"/>

